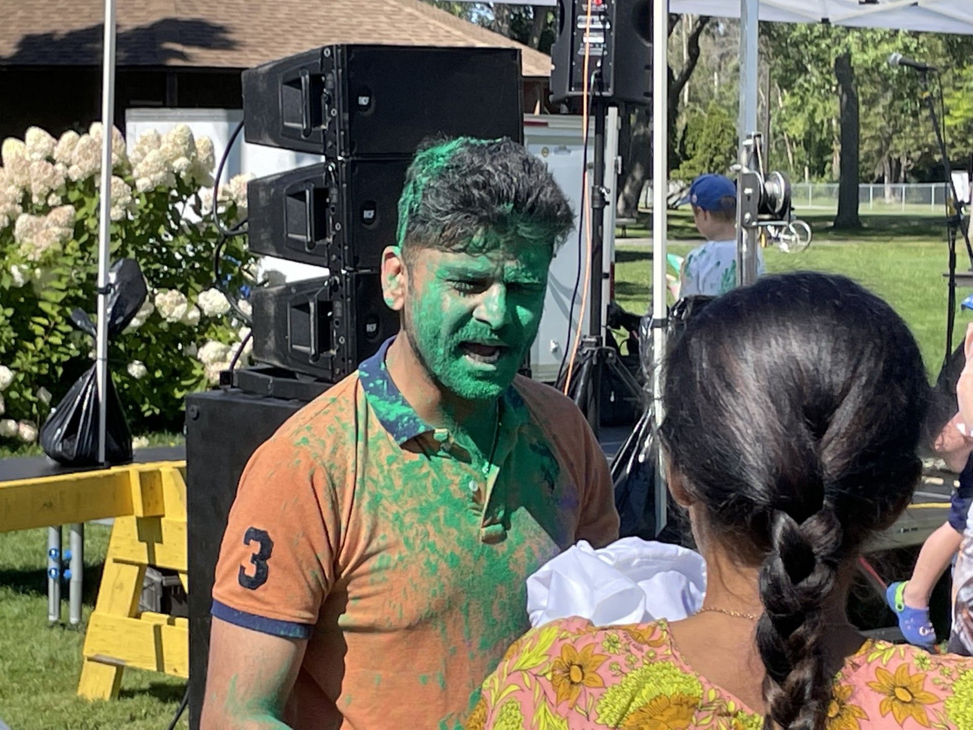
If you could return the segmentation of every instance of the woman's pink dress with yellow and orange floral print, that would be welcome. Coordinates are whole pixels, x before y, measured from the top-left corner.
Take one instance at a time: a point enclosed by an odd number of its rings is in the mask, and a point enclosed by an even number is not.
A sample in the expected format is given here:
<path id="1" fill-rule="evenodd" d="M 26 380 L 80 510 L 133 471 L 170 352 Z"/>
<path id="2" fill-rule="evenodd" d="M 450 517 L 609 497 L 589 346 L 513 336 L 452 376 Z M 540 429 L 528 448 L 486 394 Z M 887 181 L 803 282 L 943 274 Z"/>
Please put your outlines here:
<path id="1" fill-rule="evenodd" d="M 665 621 L 554 621 L 519 639 L 467 730 L 762 730 L 764 717 L 696 674 Z M 868 640 L 835 678 L 827 730 L 973 730 L 973 660 Z"/>

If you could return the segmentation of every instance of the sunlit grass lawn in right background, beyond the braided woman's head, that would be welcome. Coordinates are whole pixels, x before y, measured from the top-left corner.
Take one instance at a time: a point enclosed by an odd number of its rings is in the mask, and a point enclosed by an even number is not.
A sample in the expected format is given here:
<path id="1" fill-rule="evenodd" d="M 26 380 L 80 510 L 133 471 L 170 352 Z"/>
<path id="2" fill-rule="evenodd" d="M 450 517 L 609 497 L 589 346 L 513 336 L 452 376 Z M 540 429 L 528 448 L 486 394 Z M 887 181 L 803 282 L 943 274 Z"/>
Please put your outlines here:
<path id="1" fill-rule="evenodd" d="M 814 238 L 811 247 L 800 254 L 782 254 L 776 248 L 764 251 L 770 272 L 812 270 L 845 274 L 883 297 L 909 323 L 931 377 L 939 372 L 946 350 L 947 284 L 943 273 L 948 266 L 946 226 L 941 217 L 874 216 L 863 217 L 858 231 L 831 231 L 830 217 L 805 217 Z M 629 237 L 648 236 L 644 226 L 629 227 Z M 682 212 L 669 219 L 669 250 L 685 256 L 700 242 L 692 219 Z M 643 243 L 617 239 L 615 292 L 627 310 L 643 313 L 652 289 L 652 251 Z M 968 268 L 960 240 L 957 271 Z M 958 302 L 969 294 L 957 289 Z M 956 316 L 954 347 L 965 332 L 971 317 Z"/>

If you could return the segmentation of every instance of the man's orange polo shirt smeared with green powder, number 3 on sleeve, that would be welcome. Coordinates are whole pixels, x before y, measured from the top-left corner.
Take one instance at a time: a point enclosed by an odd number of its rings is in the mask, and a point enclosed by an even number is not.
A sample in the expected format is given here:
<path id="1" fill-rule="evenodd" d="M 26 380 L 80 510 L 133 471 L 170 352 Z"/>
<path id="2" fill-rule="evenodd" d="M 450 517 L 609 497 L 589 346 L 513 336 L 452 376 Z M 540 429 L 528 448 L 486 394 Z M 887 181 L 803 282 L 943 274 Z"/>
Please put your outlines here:
<path id="1" fill-rule="evenodd" d="M 308 640 L 298 730 L 459 727 L 529 628 L 526 577 L 618 537 L 607 462 L 571 401 L 518 376 L 476 469 L 392 383 L 388 345 L 251 457 L 216 568 L 214 616 Z"/>

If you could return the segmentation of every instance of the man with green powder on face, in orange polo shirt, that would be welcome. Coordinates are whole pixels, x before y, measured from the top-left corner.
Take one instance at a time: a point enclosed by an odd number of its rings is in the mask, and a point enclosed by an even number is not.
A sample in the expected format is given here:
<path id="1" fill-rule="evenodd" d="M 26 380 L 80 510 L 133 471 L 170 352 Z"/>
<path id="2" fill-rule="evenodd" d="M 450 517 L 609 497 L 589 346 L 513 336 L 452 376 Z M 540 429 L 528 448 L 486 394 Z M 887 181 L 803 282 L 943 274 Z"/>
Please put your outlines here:
<path id="1" fill-rule="evenodd" d="M 402 330 L 240 480 L 202 727 L 460 727 L 528 628 L 524 581 L 618 536 L 595 437 L 517 375 L 572 215 L 510 140 L 420 150 L 382 288 Z"/>

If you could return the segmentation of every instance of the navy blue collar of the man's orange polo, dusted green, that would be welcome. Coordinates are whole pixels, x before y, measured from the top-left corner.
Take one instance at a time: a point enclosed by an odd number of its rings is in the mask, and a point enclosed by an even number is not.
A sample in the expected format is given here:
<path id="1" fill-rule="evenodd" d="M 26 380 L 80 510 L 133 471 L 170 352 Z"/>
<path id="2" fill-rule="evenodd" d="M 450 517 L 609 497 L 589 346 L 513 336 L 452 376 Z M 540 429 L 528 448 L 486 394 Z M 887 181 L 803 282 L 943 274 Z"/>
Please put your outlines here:
<path id="1" fill-rule="evenodd" d="M 395 442 L 402 446 L 410 439 L 423 433 L 431 433 L 436 429 L 419 418 L 388 374 L 385 354 L 394 341 L 395 337 L 390 337 L 382 343 L 381 347 L 378 347 L 378 352 L 358 366 L 358 380 L 362 383 L 365 397 L 375 411 L 378 421 Z M 504 427 L 518 427 L 528 420 L 523 398 L 513 385 L 507 388 L 501 401 Z"/>

